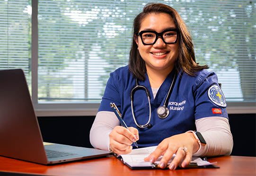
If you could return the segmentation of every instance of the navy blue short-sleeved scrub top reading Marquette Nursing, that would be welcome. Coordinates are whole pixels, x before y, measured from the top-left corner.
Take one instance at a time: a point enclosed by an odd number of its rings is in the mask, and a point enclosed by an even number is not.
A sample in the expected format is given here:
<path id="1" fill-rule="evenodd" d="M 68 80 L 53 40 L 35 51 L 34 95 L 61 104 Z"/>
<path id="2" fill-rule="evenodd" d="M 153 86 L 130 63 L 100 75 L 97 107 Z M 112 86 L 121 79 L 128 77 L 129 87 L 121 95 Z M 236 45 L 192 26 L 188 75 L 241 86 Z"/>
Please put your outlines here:
<path id="1" fill-rule="evenodd" d="M 148 75 L 139 81 L 139 85 L 148 88 L 151 104 L 151 128 L 141 129 L 132 118 L 130 93 L 135 86 L 135 78 L 128 66 L 121 67 L 110 73 L 104 96 L 98 111 L 111 111 L 110 103 L 115 103 L 121 111 L 128 127 L 139 130 L 138 146 L 149 147 L 158 145 L 170 136 L 196 130 L 195 120 L 203 117 L 219 116 L 228 118 L 225 97 L 219 88 L 218 78 L 214 72 L 199 71 L 195 76 L 189 76 L 180 71 L 168 100 L 169 115 L 160 119 L 157 108 L 163 106 L 170 88 L 174 71 L 172 71 L 160 86 L 156 97 L 153 97 Z M 133 97 L 133 110 L 137 123 L 145 124 L 149 120 L 149 103 L 144 90 L 137 90 Z M 134 147 L 134 146 L 133 146 Z"/>

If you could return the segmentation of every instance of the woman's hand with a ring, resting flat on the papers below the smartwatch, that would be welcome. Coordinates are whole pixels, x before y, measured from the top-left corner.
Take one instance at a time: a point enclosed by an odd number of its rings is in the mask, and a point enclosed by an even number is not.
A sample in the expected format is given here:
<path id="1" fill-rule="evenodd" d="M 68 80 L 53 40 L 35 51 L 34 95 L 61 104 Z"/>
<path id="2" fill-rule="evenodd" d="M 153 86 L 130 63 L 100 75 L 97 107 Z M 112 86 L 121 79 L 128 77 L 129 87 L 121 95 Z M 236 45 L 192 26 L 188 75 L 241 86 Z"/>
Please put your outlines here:
<path id="1" fill-rule="evenodd" d="M 161 143 L 159 143 L 154 152 L 152 152 L 148 157 L 144 158 L 144 161 L 150 161 L 153 163 L 157 160 L 157 158 L 163 155 L 163 158 L 160 160 L 158 166 L 160 168 L 165 168 L 173 154 L 176 154 L 176 157 L 169 165 L 169 169 L 174 170 L 179 165 L 181 167 L 187 166 L 192 159 L 193 153 L 198 149 L 199 144 L 194 139 L 193 133 L 181 133 L 164 139 Z"/>

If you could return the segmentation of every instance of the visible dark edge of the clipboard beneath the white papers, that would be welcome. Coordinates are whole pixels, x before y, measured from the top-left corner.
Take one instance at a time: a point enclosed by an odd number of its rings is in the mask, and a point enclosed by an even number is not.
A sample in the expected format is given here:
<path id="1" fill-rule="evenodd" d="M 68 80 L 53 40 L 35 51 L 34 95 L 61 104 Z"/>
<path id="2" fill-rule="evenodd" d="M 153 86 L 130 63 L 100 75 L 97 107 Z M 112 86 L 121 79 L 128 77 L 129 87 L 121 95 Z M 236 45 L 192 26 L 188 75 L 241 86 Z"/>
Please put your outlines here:
<path id="1" fill-rule="evenodd" d="M 130 163 L 124 162 L 123 158 L 121 155 L 116 155 L 114 154 L 115 158 L 117 158 L 119 161 L 121 161 L 124 165 L 128 166 L 130 169 L 133 170 L 139 170 L 139 169 L 163 169 L 158 167 L 158 164 L 152 163 L 151 166 L 148 166 L 145 164 L 145 166 L 136 166 L 136 165 L 131 165 Z M 205 158 L 203 158 L 205 160 Z M 141 165 L 141 164 L 140 164 Z M 214 164 L 212 165 L 207 165 L 207 166 L 197 166 L 196 163 L 190 163 L 186 167 L 177 167 L 177 169 L 186 169 L 186 168 L 220 168 L 219 166 L 216 166 Z M 164 169 L 168 169 L 168 166 Z"/>

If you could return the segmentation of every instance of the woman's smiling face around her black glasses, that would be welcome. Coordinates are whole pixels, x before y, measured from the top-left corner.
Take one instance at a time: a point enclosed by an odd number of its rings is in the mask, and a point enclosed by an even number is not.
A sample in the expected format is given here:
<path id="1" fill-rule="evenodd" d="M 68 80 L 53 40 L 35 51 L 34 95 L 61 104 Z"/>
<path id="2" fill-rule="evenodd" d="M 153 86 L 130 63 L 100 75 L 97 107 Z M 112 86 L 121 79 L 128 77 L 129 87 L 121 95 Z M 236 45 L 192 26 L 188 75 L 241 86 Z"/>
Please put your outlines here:
<path id="1" fill-rule="evenodd" d="M 152 30 L 161 33 L 169 28 L 176 29 L 174 20 L 170 15 L 166 13 L 152 13 L 142 20 L 139 32 Z M 144 45 L 140 36 L 136 37 L 135 41 L 138 44 L 142 59 L 146 62 L 147 71 L 161 70 L 170 72 L 174 68 L 178 56 L 178 42 L 175 44 L 165 44 L 162 38 L 159 37 L 155 44 Z"/>

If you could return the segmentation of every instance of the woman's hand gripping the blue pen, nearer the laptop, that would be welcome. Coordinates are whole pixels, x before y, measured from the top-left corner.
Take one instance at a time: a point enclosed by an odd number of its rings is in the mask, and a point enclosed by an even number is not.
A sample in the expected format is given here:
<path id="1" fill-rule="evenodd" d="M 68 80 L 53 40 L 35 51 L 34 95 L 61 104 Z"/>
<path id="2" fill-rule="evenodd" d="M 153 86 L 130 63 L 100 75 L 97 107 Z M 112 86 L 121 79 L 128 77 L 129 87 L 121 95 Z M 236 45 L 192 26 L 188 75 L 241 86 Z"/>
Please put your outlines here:
<path id="1" fill-rule="evenodd" d="M 132 151 L 132 142 L 139 140 L 139 132 L 134 127 L 115 126 L 109 133 L 109 145 L 116 154 L 128 154 Z"/>

